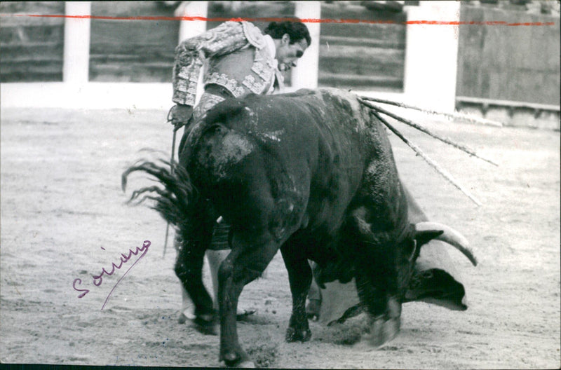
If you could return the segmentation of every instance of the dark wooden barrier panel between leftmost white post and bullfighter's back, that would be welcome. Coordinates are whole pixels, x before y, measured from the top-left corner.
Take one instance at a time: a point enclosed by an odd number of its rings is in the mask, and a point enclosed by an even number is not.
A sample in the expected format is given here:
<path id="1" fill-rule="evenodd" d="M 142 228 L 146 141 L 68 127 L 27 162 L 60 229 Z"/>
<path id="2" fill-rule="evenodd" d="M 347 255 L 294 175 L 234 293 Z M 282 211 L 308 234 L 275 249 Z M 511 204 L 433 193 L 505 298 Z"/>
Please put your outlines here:
<path id="1" fill-rule="evenodd" d="M 92 15 L 173 17 L 162 1 L 93 1 Z M 90 81 L 170 82 L 179 21 L 92 20 Z"/>

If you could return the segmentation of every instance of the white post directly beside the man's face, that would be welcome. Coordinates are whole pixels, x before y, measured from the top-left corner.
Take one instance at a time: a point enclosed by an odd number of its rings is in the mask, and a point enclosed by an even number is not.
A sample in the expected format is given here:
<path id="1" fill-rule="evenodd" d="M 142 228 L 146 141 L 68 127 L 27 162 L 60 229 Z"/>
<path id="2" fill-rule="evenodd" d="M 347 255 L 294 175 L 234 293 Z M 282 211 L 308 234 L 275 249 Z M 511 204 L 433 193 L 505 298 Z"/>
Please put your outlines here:
<path id="1" fill-rule="evenodd" d="M 295 16 L 304 19 L 319 19 L 321 17 L 320 1 L 296 1 Z M 292 69 L 292 88 L 317 88 L 318 65 L 320 58 L 320 23 L 306 23 L 310 32 L 311 45 L 304 55 L 297 61 L 297 67 Z"/>

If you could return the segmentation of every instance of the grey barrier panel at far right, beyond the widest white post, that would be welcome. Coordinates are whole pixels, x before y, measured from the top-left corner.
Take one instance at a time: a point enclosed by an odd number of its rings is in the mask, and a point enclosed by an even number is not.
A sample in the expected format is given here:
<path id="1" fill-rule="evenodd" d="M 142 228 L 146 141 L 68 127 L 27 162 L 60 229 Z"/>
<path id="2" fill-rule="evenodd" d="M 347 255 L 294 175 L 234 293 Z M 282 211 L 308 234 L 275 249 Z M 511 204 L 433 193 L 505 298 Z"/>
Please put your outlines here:
<path id="1" fill-rule="evenodd" d="M 464 26 L 457 95 L 555 104 L 560 100 L 559 18 L 461 6 L 461 20 L 554 22 L 553 27 Z"/>

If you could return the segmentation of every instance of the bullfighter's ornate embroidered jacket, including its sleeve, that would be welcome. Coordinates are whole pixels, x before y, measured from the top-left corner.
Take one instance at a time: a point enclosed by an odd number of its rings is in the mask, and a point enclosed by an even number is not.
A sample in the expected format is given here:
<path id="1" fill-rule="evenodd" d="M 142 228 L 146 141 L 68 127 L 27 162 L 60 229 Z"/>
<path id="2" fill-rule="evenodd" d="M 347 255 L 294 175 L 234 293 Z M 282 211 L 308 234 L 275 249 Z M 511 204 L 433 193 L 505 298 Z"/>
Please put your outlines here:
<path id="1" fill-rule="evenodd" d="M 264 94 L 275 81 L 276 63 L 259 28 L 250 22 L 224 22 L 175 49 L 173 102 L 194 106 L 205 60 L 205 86 L 221 85 L 234 97 Z"/>

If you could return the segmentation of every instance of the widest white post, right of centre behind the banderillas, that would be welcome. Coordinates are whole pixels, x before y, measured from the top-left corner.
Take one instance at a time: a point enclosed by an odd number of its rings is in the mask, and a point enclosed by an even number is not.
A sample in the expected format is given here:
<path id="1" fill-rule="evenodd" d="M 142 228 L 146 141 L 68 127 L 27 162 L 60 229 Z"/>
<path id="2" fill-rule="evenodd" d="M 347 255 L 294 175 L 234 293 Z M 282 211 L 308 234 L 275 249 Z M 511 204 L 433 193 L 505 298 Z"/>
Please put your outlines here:
<path id="1" fill-rule="evenodd" d="M 459 1 L 419 1 L 407 9 L 407 21 L 459 22 Z M 455 25 L 407 25 L 405 97 L 411 104 L 454 111 L 458 62 Z"/>

